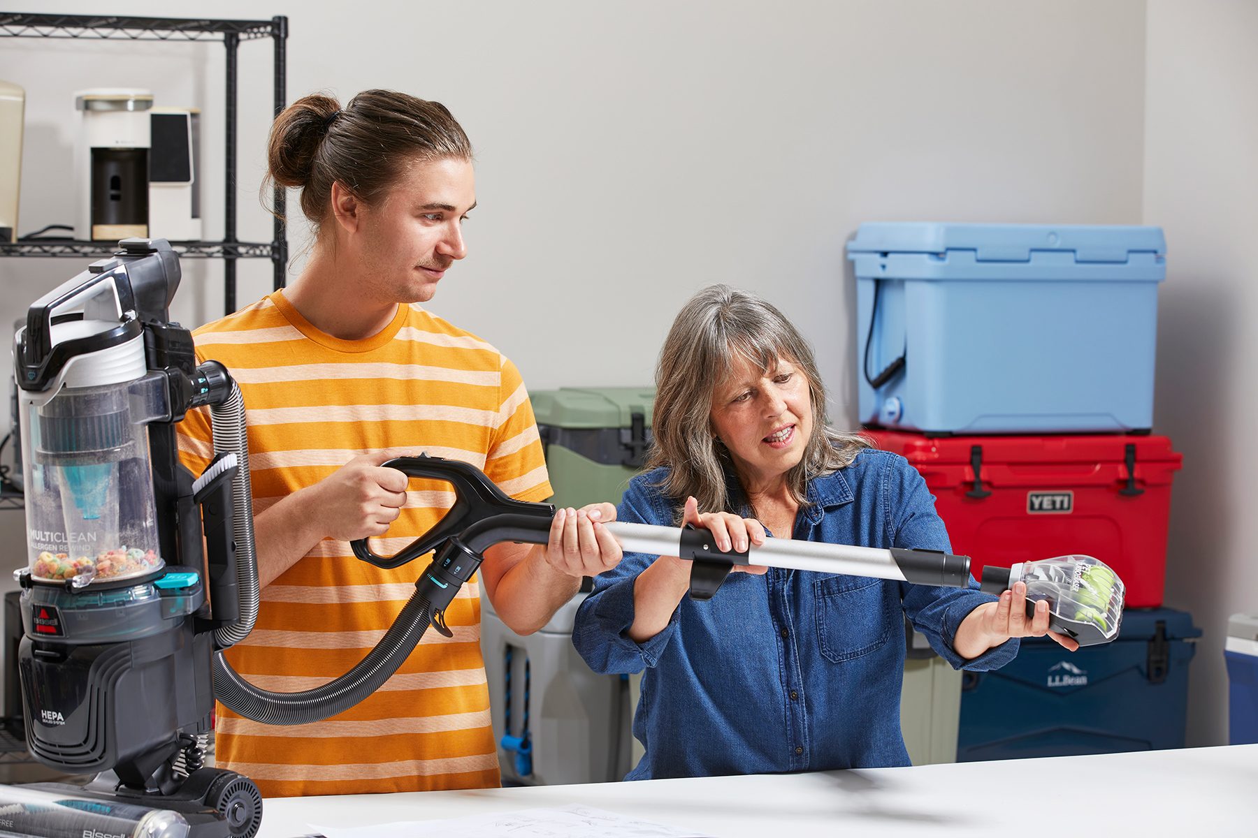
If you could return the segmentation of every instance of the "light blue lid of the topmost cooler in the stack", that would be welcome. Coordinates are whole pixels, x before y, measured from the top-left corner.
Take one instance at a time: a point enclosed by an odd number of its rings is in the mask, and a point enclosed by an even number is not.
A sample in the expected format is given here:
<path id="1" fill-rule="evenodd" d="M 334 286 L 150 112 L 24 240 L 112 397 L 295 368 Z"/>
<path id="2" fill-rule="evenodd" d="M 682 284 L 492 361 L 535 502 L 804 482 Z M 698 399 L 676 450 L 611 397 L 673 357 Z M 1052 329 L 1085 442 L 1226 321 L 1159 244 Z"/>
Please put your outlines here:
<path id="1" fill-rule="evenodd" d="M 972 250 L 977 261 L 1030 261 L 1032 251 L 1071 251 L 1077 263 L 1126 263 L 1130 254 L 1166 254 L 1161 227 L 1081 224 L 862 224 L 848 254 L 944 254 Z"/>

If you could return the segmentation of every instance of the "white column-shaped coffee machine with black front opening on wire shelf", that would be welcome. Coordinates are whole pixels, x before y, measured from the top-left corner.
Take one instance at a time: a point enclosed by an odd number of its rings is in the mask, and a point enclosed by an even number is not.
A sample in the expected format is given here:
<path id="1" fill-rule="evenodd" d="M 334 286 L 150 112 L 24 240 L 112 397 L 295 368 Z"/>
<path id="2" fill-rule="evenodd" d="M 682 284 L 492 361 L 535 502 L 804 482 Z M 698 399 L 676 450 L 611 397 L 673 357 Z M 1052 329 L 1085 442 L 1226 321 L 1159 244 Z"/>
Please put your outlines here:
<path id="1" fill-rule="evenodd" d="M 133 88 L 99 88 L 74 94 L 82 114 L 74 151 L 78 207 L 74 237 L 148 236 L 148 111 L 153 97 Z"/>

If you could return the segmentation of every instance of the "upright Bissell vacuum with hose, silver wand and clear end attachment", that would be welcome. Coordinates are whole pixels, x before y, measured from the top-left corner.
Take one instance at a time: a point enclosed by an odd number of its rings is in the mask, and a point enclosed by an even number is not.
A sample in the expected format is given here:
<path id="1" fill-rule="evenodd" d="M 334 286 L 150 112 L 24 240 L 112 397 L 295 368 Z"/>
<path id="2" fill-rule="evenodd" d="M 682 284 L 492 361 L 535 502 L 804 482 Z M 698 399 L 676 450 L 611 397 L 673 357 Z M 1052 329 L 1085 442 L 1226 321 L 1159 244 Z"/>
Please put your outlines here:
<path id="1" fill-rule="evenodd" d="M 267 724 L 301 725 L 352 707 L 385 681 L 501 541 L 545 544 L 555 509 L 507 498 L 474 466 L 439 457 L 385 462 L 443 480 L 455 503 L 391 557 L 433 554 L 392 627 L 359 665 L 302 692 L 262 690 L 223 650 L 253 628 L 258 573 L 244 405 L 228 371 L 196 364 L 191 334 L 170 320 L 179 260 L 165 240 L 128 239 L 113 258 L 39 299 L 16 338 L 21 388 L 28 567 L 19 652 L 26 743 L 42 764 L 97 774 L 87 786 L 0 786 L 0 835 L 250 838 L 262 798 L 245 776 L 203 766 L 218 699 Z M 215 457 L 194 480 L 175 423 L 208 407 Z M 423 447 L 421 441 L 416 447 Z M 610 523 L 625 550 L 693 560 L 691 596 L 712 597 L 733 564 L 966 587 L 970 562 L 933 550 L 770 539 L 721 552 L 704 529 Z M 203 534 L 205 549 L 203 550 Z M 988 567 L 1048 599 L 1052 624 L 1082 645 L 1117 636 L 1122 582 L 1088 557 Z"/>

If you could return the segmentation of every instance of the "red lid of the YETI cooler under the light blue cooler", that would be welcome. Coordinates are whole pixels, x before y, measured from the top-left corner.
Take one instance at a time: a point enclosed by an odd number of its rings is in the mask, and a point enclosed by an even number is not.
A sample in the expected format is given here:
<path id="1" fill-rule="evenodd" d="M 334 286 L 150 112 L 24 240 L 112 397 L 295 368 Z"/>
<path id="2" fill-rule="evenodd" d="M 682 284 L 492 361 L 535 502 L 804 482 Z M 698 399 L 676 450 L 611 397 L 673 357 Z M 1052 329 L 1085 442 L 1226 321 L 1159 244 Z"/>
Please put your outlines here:
<path id="1" fill-rule="evenodd" d="M 867 431 L 879 447 L 903 455 L 915 466 L 970 465 L 974 446 L 982 446 L 984 465 L 1052 465 L 1058 462 L 1125 462 L 1136 446 L 1136 462 L 1179 467 L 1184 455 L 1170 437 L 1141 433 L 1067 433 L 1015 436 L 923 436 L 903 431 Z"/>

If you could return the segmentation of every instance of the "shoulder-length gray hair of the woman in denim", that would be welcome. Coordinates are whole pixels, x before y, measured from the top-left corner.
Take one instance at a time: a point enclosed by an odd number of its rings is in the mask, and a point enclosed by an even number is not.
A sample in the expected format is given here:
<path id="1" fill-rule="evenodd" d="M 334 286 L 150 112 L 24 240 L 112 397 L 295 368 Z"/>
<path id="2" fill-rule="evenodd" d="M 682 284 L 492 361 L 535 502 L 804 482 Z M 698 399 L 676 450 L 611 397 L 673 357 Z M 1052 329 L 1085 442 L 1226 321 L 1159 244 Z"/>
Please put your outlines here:
<path id="1" fill-rule="evenodd" d="M 738 359 L 769 372 L 780 358 L 804 373 L 813 402 L 811 437 L 799 465 L 786 474 L 790 494 L 801 508 L 808 505 L 809 480 L 850 465 L 869 446 L 858 433 L 827 426 L 825 387 L 813 347 L 791 322 L 750 291 L 710 285 L 678 312 L 655 367 L 655 443 L 647 466 L 669 469 L 660 482 L 665 495 L 693 495 L 699 511 L 741 511 L 732 508 L 726 485 L 733 469 L 730 452 L 712 431 L 712 395 Z"/>

